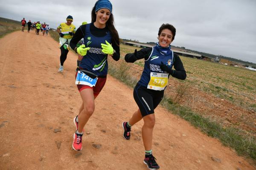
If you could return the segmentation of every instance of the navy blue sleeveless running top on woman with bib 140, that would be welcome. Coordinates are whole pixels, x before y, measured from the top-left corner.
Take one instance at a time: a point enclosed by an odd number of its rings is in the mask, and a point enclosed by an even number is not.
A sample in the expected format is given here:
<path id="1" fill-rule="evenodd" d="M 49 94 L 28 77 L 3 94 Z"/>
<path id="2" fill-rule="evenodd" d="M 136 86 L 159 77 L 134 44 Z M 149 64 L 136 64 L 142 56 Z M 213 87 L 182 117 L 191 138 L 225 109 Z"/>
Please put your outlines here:
<path id="1" fill-rule="evenodd" d="M 95 37 L 90 32 L 90 24 L 86 26 L 84 34 L 84 45 L 90 47 L 87 54 L 83 57 L 80 67 L 90 71 L 97 76 L 105 76 L 108 74 L 108 54 L 102 52 L 101 43 L 106 44 L 107 40 L 111 44 L 111 34 L 108 31 L 104 37 Z"/>

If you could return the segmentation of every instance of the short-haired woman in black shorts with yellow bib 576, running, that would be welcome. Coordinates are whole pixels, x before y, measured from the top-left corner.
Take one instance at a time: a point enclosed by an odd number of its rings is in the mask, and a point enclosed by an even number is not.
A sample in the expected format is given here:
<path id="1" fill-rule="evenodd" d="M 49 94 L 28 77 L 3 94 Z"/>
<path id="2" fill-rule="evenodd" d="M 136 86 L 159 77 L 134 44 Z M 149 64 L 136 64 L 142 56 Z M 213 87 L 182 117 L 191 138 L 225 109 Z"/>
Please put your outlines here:
<path id="1" fill-rule="evenodd" d="M 131 126 L 143 119 L 144 163 L 147 164 L 150 170 L 160 168 L 152 155 L 152 136 L 155 125 L 154 109 L 163 99 L 170 75 L 177 79 L 186 79 L 186 71 L 180 57 L 171 50 L 170 44 L 174 40 L 175 34 L 176 29 L 174 26 L 163 24 L 158 31 L 159 41 L 154 47 L 143 48 L 140 51 L 135 50 L 134 53 L 125 55 L 126 62 L 145 59 L 145 64 L 141 78 L 134 88 L 134 100 L 139 109 L 135 111 L 128 122 L 122 123 L 123 136 L 129 140 Z"/>

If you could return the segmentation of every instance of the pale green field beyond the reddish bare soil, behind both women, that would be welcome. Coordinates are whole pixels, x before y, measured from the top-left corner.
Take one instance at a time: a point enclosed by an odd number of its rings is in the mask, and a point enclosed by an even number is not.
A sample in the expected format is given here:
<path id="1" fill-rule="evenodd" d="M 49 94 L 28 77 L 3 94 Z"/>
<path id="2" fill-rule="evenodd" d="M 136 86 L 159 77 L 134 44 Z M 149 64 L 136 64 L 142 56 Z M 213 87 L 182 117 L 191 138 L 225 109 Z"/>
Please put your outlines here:
<path id="1" fill-rule="evenodd" d="M 140 48 L 121 45 L 121 55 Z M 187 73 L 185 82 L 239 107 L 256 111 L 256 71 L 180 56 Z M 135 62 L 143 66 L 144 61 Z"/>

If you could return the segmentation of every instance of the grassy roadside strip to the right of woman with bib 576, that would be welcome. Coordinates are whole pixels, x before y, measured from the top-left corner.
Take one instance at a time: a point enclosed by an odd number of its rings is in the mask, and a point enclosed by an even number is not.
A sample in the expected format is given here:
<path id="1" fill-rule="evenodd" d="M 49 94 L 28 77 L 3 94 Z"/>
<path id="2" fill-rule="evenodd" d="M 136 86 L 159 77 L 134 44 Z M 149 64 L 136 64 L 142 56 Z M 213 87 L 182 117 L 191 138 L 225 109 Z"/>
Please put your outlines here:
<path id="1" fill-rule="evenodd" d="M 256 164 L 256 139 L 253 136 L 233 127 L 224 127 L 212 118 L 191 111 L 190 108 L 175 105 L 170 98 L 165 97 L 161 105 L 190 122 L 208 136 L 218 138 L 222 144 L 234 148 L 239 155 L 250 157 Z"/>

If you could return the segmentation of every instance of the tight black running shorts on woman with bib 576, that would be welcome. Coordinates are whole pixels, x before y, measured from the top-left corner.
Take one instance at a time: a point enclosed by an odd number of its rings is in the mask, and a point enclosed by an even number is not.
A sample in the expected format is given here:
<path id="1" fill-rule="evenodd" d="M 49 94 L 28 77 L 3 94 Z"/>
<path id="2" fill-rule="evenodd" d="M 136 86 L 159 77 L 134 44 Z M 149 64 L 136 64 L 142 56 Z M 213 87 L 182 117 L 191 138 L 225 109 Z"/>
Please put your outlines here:
<path id="1" fill-rule="evenodd" d="M 139 84 L 135 86 L 134 100 L 143 117 L 154 113 L 154 109 L 163 99 L 163 93 L 164 91 L 151 90 Z"/>

